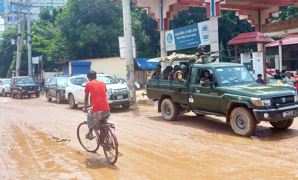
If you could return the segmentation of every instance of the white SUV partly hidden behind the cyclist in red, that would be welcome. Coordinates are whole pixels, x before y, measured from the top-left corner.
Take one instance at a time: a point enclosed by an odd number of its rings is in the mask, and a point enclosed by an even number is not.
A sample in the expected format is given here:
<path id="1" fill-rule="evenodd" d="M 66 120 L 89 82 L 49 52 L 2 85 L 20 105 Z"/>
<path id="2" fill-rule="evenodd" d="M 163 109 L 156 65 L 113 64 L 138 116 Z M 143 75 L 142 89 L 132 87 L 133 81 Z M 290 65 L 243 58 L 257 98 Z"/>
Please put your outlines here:
<path id="1" fill-rule="evenodd" d="M 122 106 L 122 108 L 129 108 L 132 100 L 131 90 L 124 84 L 119 83 L 110 75 L 97 73 L 97 80 L 103 81 L 107 87 L 107 94 L 110 94 L 108 104 L 110 107 Z M 77 75 L 69 78 L 66 84 L 66 99 L 68 100 L 70 108 L 77 108 L 77 105 L 84 105 L 85 86 L 88 82 L 86 75 Z M 89 98 L 88 105 L 91 105 Z"/>

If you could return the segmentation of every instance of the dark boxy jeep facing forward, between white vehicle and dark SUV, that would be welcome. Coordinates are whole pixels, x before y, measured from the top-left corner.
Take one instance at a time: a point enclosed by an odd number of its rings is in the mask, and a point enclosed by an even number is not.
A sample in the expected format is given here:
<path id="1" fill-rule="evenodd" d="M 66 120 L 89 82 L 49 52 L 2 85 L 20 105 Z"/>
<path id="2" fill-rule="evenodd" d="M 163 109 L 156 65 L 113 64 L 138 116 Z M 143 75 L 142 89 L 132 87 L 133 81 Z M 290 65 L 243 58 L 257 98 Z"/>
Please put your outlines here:
<path id="1" fill-rule="evenodd" d="M 10 81 L 10 96 L 12 98 L 18 95 L 19 99 L 23 99 L 23 95 L 31 97 L 35 94 L 39 97 L 38 85 L 34 83 L 34 80 L 30 76 L 12 77 Z"/>

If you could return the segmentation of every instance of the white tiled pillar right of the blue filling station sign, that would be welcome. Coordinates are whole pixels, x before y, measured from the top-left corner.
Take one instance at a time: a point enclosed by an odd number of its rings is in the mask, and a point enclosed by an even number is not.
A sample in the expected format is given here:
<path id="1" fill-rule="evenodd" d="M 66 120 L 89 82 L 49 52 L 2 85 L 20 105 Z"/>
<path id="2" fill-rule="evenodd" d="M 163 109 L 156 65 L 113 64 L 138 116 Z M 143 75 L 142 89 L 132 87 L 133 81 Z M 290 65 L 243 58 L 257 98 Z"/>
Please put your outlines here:
<path id="1" fill-rule="evenodd" d="M 218 51 L 218 17 L 211 16 L 210 20 L 210 51 Z M 216 54 L 212 54 L 211 56 L 216 56 Z M 217 58 L 215 62 L 219 62 Z"/>

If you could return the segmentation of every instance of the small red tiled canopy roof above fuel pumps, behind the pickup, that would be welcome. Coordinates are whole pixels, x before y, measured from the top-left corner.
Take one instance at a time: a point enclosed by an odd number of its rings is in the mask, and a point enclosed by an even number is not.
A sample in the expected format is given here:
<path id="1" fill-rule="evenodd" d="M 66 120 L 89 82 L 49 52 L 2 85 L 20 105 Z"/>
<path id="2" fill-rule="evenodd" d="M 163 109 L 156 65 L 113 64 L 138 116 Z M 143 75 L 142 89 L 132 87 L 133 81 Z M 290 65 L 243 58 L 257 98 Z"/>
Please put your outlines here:
<path id="1" fill-rule="evenodd" d="M 256 44 L 256 43 L 268 43 L 274 42 L 268 35 L 260 33 L 258 31 L 241 33 L 228 42 L 228 45 L 232 44 Z"/>

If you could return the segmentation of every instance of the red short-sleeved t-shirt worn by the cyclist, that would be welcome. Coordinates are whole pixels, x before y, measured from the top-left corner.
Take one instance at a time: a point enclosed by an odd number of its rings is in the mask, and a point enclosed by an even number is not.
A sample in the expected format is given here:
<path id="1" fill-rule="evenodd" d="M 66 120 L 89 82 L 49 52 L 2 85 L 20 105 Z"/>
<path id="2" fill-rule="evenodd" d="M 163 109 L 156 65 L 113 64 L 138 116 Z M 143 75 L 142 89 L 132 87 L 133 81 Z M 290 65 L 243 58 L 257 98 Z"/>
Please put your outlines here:
<path id="1" fill-rule="evenodd" d="M 91 94 L 92 112 L 110 110 L 105 83 L 99 80 L 92 80 L 86 83 L 85 92 Z"/>

